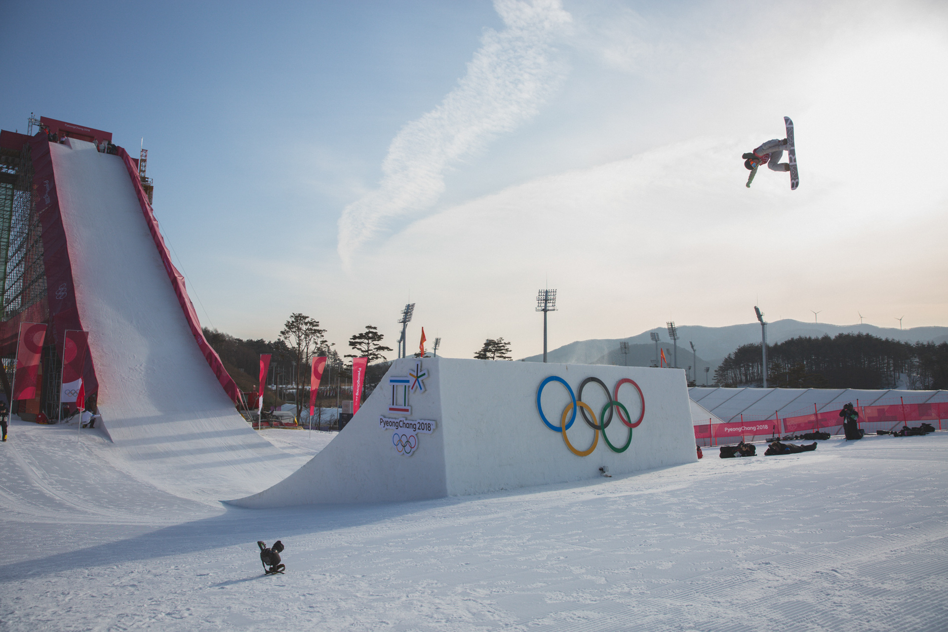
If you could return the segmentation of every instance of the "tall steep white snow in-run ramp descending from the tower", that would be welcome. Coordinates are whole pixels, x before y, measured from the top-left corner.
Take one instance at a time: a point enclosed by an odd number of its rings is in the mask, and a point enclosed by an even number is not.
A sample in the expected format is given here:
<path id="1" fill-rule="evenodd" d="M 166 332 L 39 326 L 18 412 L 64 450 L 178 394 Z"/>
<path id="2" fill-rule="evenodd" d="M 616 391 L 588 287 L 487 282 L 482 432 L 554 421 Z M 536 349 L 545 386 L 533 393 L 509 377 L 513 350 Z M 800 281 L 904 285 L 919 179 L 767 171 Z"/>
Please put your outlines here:
<path id="1" fill-rule="evenodd" d="M 74 138 L 48 148 L 102 425 L 129 474 L 201 499 L 284 479 L 300 459 L 236 411 L 225 390 L 232 380 L 208 354 L 127 154 L 100 153 Z M 66 289 L 50 283 L 51 299 Z"/>

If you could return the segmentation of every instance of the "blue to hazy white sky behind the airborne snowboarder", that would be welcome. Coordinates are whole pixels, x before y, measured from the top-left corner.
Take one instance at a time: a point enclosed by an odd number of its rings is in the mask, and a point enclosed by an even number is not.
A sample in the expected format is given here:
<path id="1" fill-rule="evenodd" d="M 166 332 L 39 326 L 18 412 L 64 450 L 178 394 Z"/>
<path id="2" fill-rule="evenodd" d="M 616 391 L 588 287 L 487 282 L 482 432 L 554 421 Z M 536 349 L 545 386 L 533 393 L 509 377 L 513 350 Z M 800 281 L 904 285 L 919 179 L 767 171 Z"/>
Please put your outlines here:
<path id="1" fill-rule="evenodd" d="M 204 324 L 447 355 L 675 319 L 948 325 L 943 3 L 3 3 L 0 126 L 143 136 Z M 41 26 L 43 25 L 43 26 Z M 740 153 L 797 125 L 800 189 Z M 939 143 L 939 140 L 936 143 Z M 393 346 L 393 345 L 392 345 Z"/>

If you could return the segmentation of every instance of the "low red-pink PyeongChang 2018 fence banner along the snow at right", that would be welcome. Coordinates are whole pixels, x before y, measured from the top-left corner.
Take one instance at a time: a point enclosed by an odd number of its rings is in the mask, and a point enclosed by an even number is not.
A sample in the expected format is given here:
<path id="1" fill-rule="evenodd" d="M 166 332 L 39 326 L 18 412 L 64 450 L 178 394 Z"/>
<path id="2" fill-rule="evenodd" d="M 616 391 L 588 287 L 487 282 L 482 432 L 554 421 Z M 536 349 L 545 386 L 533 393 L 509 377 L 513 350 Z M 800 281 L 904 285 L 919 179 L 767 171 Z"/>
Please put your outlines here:
<path id="1" fill-rule="evenodd" d="M 905 404 L 899 402 L 877 404 L 874 406 L 860 406 L 856 401 L 856 410 L 859 411 L 859 427 L 871 434 L 877 430 L 899 430 L 903 425 L 921 424 L 928 422 L 936 429 L 942 429 L 942 423 L 948 427 L 948 402 L 933 404 Z M 721 424 L 714 424 L 708 420 L 707 424 L 695 424 L 695 440 L 702 446 L 735 443 L 738 441 L 757 441 L 775 436 L 804 434 L 806 432 L 829 432 L 831 435 L 843 433 L 843 418 L 839 416 L 842 408 L 834 410 L 818 410 L 813 405 L 811 413 L 780 417 L 778 411 L 773 415 L 761 419 L 759 416 L 740 415 L 739 420 Z"/>

